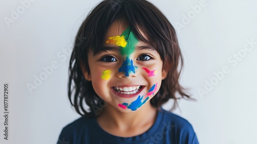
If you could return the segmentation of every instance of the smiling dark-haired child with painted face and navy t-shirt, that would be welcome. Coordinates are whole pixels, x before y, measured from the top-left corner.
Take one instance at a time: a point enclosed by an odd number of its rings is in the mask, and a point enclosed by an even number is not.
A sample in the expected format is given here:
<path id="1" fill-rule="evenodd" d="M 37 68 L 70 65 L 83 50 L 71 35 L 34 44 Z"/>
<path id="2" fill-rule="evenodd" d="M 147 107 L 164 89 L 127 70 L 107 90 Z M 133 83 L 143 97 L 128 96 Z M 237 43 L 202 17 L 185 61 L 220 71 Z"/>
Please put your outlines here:
<path id="1" fill-rule="evenodd" d="M 58 143 L 198 143 L 186 119 L 160 108 L 171 98 L 174 108 L 176 93 L 190 97 L 178 83 L 175 30 L 154 5 L 102 1 L 76 38 L 68 96 L 82 117 L 63 128 Z"/>

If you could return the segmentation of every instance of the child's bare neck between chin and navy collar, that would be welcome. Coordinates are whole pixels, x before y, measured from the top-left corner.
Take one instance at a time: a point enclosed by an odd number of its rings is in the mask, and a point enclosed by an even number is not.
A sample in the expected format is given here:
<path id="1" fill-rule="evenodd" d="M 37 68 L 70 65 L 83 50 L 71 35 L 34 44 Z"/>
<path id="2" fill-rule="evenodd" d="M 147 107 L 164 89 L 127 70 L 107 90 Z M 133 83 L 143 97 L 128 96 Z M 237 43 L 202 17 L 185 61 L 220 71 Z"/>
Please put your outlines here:
<path id="1" fill-rule="evenodd" d="M 157 110 L 147 102 L 139 110 L 130 113 L 122 113 L 112 105 L 107 105 L 97 121 L 100 127 L 110 134 L 132 137 L 150 129 L 156 117 Z"/>

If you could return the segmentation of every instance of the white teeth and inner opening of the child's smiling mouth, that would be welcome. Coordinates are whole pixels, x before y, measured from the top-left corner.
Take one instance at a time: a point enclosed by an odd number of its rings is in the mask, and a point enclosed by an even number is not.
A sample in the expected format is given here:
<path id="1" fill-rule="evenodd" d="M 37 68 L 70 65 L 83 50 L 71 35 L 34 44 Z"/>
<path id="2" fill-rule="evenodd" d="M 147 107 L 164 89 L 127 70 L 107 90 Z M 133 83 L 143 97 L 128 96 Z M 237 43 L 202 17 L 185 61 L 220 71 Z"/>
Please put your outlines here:
<path id="1" fill-rule="evenodd" d="M 142 85 L 135 85 L 135 86 L 128 86 L 128 87 L 119 87 L 115 86 L 113 87 L 114 91 L 119 94 L 125 94 L 125 95 L 133 95 L 140 92 L 140 90 L 143 88 Z"/>

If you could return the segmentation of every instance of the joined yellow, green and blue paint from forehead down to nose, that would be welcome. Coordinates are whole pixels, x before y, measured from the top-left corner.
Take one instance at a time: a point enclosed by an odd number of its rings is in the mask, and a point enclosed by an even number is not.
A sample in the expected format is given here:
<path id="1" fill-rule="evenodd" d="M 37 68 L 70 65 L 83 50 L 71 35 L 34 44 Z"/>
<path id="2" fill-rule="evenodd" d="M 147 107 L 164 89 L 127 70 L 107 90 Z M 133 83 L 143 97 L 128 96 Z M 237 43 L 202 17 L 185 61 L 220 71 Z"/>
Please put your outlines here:
<path id="1" fill-rule="evenodd" d="M 135 51 L 138 40 L 131 31 L 131 27 L 127 27 L 127 29 L 123 31 L 120 36 L 109 37 L 106 43 L 112 43 L 119 46 L 120 54 L 126 57 L 125 60 L 123 59 L 119 72 L 123 72 L 126 77 L 128 77 L 131 73 L 135 74 L 135 68 L 137 68 L 137 66 L 133 65 L 133 61 L 130 60 L 130 55 Z"/>

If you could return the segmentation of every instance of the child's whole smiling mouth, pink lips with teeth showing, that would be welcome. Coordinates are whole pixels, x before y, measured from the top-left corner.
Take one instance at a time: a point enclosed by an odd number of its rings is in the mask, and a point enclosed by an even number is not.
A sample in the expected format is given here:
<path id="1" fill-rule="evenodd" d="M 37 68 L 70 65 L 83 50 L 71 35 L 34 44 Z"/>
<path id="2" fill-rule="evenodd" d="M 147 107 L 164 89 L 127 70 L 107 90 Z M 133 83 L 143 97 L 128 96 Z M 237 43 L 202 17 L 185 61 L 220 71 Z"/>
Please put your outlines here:
<path id="1" fill-rule="evenodd" d="M 135 85 L 135 86 L 124 86 L 124 87 L 113 87 L 113 91 L 115 95 L 123 98 L 132 98 L 138 96 L 138 94 L 142 91 L 144 86 Z"/>

